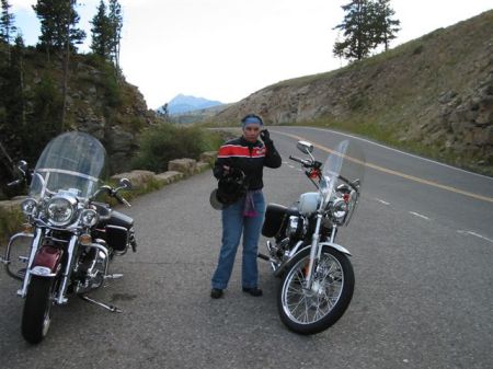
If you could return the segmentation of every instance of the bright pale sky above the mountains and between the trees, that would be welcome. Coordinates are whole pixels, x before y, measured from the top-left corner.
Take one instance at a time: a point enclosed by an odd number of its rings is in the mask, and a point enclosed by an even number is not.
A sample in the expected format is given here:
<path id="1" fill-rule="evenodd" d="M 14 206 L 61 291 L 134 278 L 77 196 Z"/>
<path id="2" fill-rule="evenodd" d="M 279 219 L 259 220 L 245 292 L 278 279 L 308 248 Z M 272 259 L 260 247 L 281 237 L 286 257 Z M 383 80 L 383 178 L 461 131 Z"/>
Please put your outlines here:
<path id="1" fill-rule="evenodd" d="M 88 38 L 100 0 L 79 0 Z M 337 69 L 332 47 L 348 0 L 119 0 L 121 67 L 149 108 L 179 93 L 232 103 L 286 79 Z M 10 0 L 35 45 L 35 0 Z M 493 9 L 493 0 L 392 0 L 401 31 L 391 47 Z"/>

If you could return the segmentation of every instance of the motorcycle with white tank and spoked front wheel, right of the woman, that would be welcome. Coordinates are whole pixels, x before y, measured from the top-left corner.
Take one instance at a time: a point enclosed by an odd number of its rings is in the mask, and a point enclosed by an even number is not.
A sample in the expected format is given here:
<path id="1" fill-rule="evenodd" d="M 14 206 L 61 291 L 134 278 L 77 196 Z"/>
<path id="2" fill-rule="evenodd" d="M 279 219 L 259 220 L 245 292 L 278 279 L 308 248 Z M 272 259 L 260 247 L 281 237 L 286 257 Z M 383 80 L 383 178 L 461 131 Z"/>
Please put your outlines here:
<path id="1" fill-rule="evenodd" d="M 274 276 L 282 277 L 277 308 L 283 323 L 299 334 L 320 333 L 344 314 L 353 297 L 355 277 L 351 253 L 335 243 L 337 229 L 347 226 L 360 197 L 365 157 L 348 140 L 331 151 L 324 165 L 313 145 L 299 141 L 308 159 L 301 164 L 317 192 L 301 194 L 291 207 L 270 204 L 262 234 Z"/>

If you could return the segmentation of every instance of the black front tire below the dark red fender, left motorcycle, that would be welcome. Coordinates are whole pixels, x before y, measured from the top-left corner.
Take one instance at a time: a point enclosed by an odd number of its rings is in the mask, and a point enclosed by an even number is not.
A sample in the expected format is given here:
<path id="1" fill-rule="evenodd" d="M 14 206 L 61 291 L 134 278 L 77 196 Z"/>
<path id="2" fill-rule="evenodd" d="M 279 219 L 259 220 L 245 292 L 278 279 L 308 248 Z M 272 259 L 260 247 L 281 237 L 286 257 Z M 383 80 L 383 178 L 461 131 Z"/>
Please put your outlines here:
<path id="1" fill-rule="evenodd" d="M 54 278 L 31 277 L 22 313 L 22 336 L 30 344 L 41 343 L 48 334 L 54 284 Z"/>

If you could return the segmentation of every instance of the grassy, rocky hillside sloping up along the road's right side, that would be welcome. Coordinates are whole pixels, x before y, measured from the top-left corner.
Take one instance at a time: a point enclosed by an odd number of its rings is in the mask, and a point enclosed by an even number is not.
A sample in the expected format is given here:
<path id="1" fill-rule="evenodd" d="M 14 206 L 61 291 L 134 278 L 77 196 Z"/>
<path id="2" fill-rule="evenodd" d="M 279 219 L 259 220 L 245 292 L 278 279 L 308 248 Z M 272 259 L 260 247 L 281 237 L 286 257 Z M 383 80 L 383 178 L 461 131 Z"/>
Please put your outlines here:
<path id="1" fill-rule="evenodd" d="M 329 73 L 267 87 L 215 117 L 353 130 L 493 173 L 493 11 Z"/>

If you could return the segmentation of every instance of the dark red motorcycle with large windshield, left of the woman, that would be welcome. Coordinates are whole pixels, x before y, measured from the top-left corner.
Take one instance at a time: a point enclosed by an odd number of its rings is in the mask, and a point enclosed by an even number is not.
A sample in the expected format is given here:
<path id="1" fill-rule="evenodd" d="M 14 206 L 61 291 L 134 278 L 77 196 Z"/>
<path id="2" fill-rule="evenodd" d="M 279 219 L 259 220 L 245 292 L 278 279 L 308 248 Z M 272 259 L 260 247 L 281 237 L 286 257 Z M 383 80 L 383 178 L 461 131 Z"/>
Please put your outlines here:
<path id="1" fill-rule="evenodd" d="M 95 303 L 112 312 L 114 305 L 87 296 L 110 279 L 110 262 L 124 255 L 128 247 L 136 252 L 134 220 L 102 201 L 106 194 L 130 206 L 119 192 L 130 189 L 128 180 L 118 187 L 103 185 L 106 151 L 94 137 L 71 131 L 53 139 L 39 157 L 34 172 L 21 161 L 22 177 L 10 185 L 27 182 L 28 197 L 21 204 L 27 218 L 23 232 L 12 235 L 0 261 L 9 276 L 22 280 L 18 295 L 25 298 L 22 335 L 37 344 L 47 335 L 51 307 L 64 305 L 70 295 Z M 25 268 L 12 270 L 12 249 L 27 239 L 27 254 L 20 256 Z"/>

